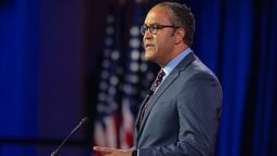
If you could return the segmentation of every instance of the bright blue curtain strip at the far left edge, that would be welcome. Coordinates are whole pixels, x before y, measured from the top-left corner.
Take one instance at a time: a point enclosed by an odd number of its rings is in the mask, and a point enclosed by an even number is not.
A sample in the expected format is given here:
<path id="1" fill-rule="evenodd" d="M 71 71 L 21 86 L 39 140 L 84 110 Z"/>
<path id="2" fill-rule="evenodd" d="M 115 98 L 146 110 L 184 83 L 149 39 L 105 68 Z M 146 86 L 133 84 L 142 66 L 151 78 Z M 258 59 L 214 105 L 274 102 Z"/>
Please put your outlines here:
<path id="1" fill-rule="evenodd" d="M 36 135 L 38 1 L 0 2 L 0 140 Z M 9 151 L 9 153 L 5 153 Z M 0 155 L 35 154 L 0 144 Z"/>

